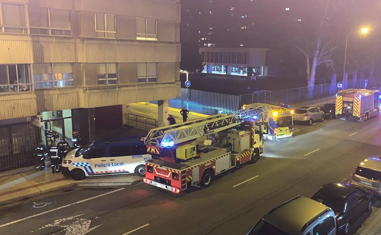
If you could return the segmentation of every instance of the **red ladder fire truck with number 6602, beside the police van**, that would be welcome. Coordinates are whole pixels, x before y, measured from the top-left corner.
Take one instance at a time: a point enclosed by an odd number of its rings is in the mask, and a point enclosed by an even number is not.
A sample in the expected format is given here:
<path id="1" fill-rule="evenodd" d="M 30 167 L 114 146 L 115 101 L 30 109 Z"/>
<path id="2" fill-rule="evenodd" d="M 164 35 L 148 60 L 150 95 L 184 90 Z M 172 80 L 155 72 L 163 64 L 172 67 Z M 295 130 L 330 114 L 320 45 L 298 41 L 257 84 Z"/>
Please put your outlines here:
<path id="1" fill-rule="evenodd" d="M 151 129 L 145 139 L 147 184 L 182 192 L 208 187 L 218 174 L 263 156 L 262 111 L 241 109 Z M 155 158 L 156 157 L 156 158 Z"/>

